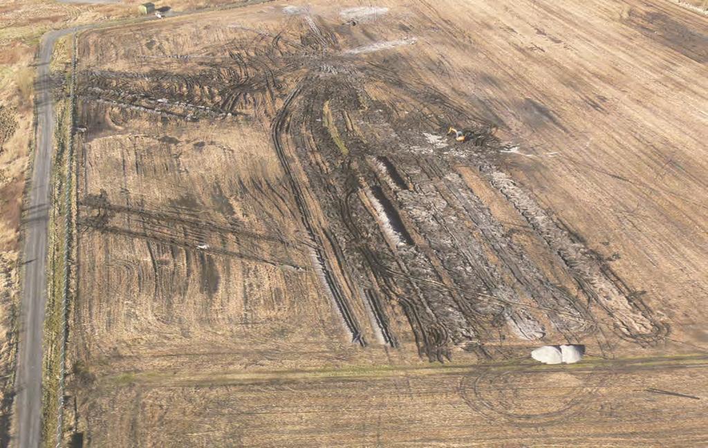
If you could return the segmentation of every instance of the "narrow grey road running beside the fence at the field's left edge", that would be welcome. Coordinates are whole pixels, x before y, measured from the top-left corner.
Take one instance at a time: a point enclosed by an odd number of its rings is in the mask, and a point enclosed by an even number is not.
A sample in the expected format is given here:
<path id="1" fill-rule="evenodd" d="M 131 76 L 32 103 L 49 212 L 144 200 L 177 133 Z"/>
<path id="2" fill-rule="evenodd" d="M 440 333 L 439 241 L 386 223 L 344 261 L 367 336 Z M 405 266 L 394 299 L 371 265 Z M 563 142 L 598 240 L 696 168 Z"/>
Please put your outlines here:
<path id="1" fill-rule="evenodd" d="M 22 294 L 20 347 L 17 359 L 16 415 L 18 447 L 38 447 L 42 405 L 42 328 L 47 301 L 47 221 L 50 197 L 54 111 L 50 59 L 57 38 L 74 28 L 47 33 L 40 44 L 37 68 L 37 129 L 32 183 L 26 217 L 25 278 Z"/>

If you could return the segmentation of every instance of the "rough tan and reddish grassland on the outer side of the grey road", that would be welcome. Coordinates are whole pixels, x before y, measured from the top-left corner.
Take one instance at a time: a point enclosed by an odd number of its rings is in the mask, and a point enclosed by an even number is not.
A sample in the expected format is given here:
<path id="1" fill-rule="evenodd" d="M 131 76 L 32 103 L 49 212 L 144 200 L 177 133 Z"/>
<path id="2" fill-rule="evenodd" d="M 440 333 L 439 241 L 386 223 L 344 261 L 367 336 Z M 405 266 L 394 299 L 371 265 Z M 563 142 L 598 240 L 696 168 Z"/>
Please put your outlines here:
<path id="1" fill-rule="evenodd" d="M 35 54 L 47 31 L 120 18 L 137 18 L 138 0 L 0 0 L 0 445 L 11 425 L 13 382 L 23 284 L 21 235 L 38 209 L 23 206 L 33 166 Z M 173 12 L 219 6 L 226 0 L 175 0 Z M 52 60 L 56 96 L 62 96 L 67 42 L 59 42 Z M 70 50 L 70 49 L 69 49 Z M 41 213 L 40 213 L 41 214 Z"/>

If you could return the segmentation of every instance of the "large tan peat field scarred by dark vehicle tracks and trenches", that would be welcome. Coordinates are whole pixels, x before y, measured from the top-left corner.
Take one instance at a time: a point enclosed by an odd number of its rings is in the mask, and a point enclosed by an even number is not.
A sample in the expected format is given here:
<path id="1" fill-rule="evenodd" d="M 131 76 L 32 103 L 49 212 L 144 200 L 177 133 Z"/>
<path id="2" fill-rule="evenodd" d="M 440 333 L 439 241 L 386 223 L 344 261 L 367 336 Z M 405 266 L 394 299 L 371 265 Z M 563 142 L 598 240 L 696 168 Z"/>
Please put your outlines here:
<path id="1" fill-rule="evenodd" d="M 67 443 L 708 443 L 708 19 L 334 3 L 81 33 Z"/>

